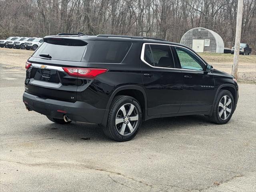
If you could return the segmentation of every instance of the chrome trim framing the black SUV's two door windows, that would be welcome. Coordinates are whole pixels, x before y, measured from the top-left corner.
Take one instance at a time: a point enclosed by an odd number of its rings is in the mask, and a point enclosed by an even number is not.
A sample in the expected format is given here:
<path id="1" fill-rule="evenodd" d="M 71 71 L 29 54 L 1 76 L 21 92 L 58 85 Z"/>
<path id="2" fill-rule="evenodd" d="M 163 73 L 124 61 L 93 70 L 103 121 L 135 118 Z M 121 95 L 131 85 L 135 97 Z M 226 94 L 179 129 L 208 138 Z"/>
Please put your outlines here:
<path id="1" fill-rule="evenodd" d="M 144 43 L 142 45 L 142 51 L 141 51 L 141 54 L 140 54 L 140 60 L 142 60 L 142 62 L 144 62 L 145 64 L 147 64 L 148 66 L 152 67 L 152 68 L 159 68 L 159 69 L 172 69 L 172 70 L 188 70 L 188 71 L 204 71 L 204 70 L 192 70 L 192 69 L 179 69 L 179 68 L 168 68 L 168 67 L 156 67 L 156 66 L 152 66 L 150 65 L 148 62 L 146 62 L 144 60 L 144 52 L 145 52 L 145 45 L 147 44 L 154 44 L 154 45 L 167 45 L 167 46 L 174 46 L 174 47 L 181 47 L 181 48 L 184 48 L 184 49 L 187 49 L 189 50 L 188 48 L 186 47 L 183 47 L 183 46 L 179 46 L 179 45 L 171 45 L 171 44 L 162 44 L 162 43 Z M 189 50 L 192 54 L 194 54 L 191 50 Z M 194 54 L 195 56 L 197 56 L 196 54 Z M 199 57 L 197 56 L 202 62 L 203 64 L 206 66 L 206 63 Z"/>

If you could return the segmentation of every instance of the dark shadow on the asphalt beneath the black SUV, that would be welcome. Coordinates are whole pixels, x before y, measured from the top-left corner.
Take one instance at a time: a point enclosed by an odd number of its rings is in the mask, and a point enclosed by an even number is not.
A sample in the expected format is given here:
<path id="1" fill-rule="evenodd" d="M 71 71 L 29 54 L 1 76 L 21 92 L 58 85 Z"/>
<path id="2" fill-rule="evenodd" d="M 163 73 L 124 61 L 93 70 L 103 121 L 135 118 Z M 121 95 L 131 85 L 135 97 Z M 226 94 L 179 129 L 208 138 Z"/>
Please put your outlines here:
<path id="1" fill-rule="evenodd" d="M 151 119 L 142 123 L 138 136 L 140 134 L 151 136 L 152 131 L 161 134 L 161 132 L 165 130 L 171 132 L 174 130 L 191 128 L 191 126 L 207 126 L 208 124 L 211 123 L 208 122 L 207 118 L 200 115 Z M 49 122 L 48 124 L 41 126 L 41 133 L 44 132 L 44 134 L 50 135 L 53 138 L 59 138 L 67 142 L 84 142 L 90 140 L 115 142 L 107 138 L 102 127 L 96 124 L 76 122 L 61 125 Z M 138 138 L 138 136 L 135 138 Z"/>

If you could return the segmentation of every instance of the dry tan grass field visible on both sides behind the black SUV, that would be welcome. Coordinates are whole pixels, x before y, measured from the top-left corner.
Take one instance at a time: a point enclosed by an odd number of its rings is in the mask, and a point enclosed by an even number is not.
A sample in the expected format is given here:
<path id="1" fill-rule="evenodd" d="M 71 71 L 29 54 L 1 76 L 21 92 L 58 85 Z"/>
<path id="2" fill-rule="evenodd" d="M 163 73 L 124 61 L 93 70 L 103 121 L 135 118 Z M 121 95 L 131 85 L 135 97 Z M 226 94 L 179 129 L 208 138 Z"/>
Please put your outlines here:
<path id="1" fill-rule="evenodd" d="M 7 68 L 24 68 L 26 60 L 33 54 L 31 50 L 0 48 L 0 64 Z M 200 56 L 218 70 L 232 72 L 232 54 L 200 53 Z M 238 82 L 256 84 L 256 55 L 240 55 Z"/>

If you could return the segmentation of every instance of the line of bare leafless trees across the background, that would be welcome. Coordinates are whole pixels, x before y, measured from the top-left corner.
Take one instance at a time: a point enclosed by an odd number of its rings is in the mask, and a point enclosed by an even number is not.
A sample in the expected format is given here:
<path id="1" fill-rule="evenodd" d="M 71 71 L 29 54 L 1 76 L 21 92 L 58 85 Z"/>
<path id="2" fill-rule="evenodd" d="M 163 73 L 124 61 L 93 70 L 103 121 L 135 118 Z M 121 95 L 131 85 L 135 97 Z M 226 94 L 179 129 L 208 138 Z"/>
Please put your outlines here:
<path id="1" fill-rule="evenodd" d="M 122 34 L 180 42 L 195 27 L 234 44 L 238 0 L 0 0 L 0 38 L 60 32 Z M 244 0 L 241 42 L 256 48 L 256 1 Z"/>

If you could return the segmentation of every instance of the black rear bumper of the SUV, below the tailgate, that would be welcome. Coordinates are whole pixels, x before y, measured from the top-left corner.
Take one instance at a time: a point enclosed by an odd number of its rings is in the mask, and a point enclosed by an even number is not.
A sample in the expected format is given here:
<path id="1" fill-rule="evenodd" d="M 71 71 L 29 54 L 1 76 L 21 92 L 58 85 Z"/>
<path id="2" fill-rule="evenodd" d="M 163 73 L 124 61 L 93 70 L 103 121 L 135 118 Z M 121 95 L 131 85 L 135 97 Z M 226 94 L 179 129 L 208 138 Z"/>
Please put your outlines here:
<path id="1" fill-rule="evenodd" d="M 30 110 L 57 119 L 62 119 L 65 114 L 72 121 L 105 124 L 104 121 L 106 115 L 108 115 L 108 110 L 95 108 L 85 102 L 76 101 L 72 103 L 44 99 L 26 92 L 23 94 L 23 102 Z"/>

